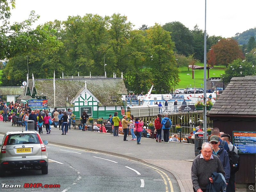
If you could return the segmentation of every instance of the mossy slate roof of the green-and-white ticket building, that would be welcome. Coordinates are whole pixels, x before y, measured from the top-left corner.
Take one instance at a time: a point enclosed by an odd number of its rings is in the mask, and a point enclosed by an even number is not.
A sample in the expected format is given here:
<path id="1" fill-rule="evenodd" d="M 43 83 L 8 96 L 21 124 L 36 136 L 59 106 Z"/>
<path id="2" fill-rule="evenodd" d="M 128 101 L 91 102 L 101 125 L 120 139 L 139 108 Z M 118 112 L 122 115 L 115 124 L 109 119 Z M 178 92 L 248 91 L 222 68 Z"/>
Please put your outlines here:
<path id="1" fill-rule="evenodd" d="M 55 106 L 69 107 L 70 101 L 84 90 L 85 80 L 87 89 L 100 101 L 101 106 L 121 106 L 123 101 L 121 95 L 127 94 L 122 78 L 69 78 L 55 79 Z M 29 83 L 32 80 L 29 80 Z M 53 79 L 35 79 L 36 93 L 41 96 L 44 93 L 48 99 L 48 107 L 54 106 Z M 117 102 L 111 97 L 115 96 Z M 68 103 L 67 103 L 68 97 Z"/>

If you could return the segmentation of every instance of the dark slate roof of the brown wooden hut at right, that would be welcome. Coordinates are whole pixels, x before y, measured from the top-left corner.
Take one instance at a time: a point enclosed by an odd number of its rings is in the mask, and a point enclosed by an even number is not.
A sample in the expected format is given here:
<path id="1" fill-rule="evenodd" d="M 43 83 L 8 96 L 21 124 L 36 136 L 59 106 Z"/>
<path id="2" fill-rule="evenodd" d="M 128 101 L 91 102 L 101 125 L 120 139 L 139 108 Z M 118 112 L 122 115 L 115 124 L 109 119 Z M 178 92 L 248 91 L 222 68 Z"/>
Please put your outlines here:
<path id="1" fill-rule="evenodd" d="M 256 76 L 233 77 L 208 115 L 256 117 Z"/>

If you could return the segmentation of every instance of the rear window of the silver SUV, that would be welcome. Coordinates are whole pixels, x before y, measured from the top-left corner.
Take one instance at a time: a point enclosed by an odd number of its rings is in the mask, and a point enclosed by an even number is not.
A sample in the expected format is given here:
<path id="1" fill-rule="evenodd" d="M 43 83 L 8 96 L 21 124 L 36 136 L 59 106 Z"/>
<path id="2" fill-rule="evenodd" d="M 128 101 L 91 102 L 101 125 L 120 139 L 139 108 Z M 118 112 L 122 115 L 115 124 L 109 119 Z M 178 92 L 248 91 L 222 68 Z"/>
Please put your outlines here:
<path id="1" fill-rule="evenodd" d="M 19 145 L 19 144 L 40 144 L 36 133 L 17 133 L 10 134 L 7 140 L 7 145 Z"/>

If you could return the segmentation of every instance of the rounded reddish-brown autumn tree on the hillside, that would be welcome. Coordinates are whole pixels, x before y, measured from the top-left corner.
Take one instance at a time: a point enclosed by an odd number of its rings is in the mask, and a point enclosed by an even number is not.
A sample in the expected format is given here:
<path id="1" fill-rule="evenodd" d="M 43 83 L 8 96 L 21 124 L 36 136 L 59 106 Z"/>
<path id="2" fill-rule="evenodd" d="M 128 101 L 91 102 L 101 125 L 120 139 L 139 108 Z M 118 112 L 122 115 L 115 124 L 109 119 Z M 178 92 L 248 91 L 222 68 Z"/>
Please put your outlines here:
<path id="1" fill-rule="evenodd" d="M 219 65 L 227 66 L 233 60 L 238 58 L 244 59 L 244 54 L 239 48 L 237 41 L 232 38 L 223 38 L 211 48 L 215 53 L 216 63 Z"/>

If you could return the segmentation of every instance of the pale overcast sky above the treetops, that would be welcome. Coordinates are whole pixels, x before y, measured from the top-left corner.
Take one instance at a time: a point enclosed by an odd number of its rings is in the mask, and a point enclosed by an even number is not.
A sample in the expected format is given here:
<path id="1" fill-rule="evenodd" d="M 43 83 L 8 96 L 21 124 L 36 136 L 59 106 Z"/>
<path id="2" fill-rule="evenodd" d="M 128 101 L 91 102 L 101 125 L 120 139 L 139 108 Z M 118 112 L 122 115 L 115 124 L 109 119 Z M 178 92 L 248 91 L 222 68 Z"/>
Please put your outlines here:
<path id="1" fill-rule="evenodd" d="M 155 23 L 164 25 L 179 21 L 189 29 L 197 24 L 204 30 L 204 0 L 16 0 L 11 22 L 28 18 L 34 10 L 40 15 L 36 22 L 67 20 L 68 16 L 84 16 L 86 13 L 111 16 L 120 13 L 138 29 Z M 256 27 L 256 0 L 207 0 L 206 32 L 212 36 L 232 37 L 236 33 Z"/>

